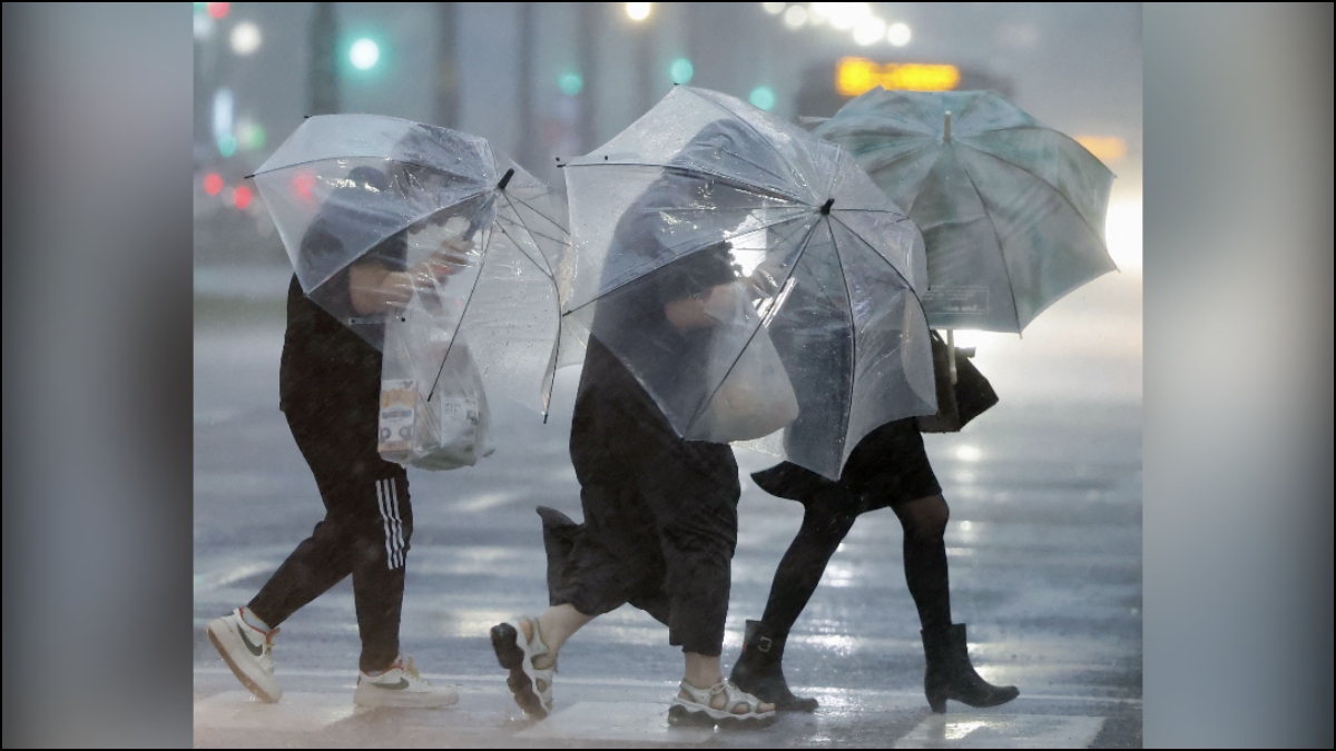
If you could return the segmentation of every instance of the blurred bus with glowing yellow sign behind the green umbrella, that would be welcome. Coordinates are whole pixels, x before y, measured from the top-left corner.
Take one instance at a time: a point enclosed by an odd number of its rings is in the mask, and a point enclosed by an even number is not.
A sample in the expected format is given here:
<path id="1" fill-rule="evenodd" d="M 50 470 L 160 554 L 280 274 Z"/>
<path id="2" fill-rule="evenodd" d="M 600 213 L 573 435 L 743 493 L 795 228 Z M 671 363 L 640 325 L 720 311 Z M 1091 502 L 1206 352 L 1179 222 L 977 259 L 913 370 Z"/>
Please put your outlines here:
<path id="1" fill-rule="evenodd" d="M 914 59 L 839 57 L 818 63 L 803 73 L 798 115 L 830 118 L 846 102 L 878 86 L 891 90 L 993 90 L 1011 98 L 1011 82 L 978 65 Z"/>

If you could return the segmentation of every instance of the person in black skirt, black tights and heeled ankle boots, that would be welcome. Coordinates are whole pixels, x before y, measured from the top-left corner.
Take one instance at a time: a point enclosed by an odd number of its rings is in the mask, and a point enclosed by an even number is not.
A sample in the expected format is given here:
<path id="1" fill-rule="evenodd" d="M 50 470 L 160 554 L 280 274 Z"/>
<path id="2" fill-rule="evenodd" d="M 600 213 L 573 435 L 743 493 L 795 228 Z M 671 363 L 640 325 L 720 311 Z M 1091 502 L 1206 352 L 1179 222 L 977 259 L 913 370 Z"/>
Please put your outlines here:
<path id="1" fill-rule="evenodd" d="M 934 361 L 946 345 L 934 335 Z M 961 359 L 959 425 L 997 402 L 987 381 Z M 941 400 L 939 400 L 941 401 Z M 934 712 L 954 699 L 970 707 L 995 707 L 1015 699 L 1014 686 L 993 686 L 970 664 L 965 624 L 951 623 L 943 535 L 950 516 L 942 488 L 923 449 L 915 418 L 898 420 L 868 433 L 850 454 L 838 482 L 791 462 L 756 472 L 766 492 L 803 504 L 803 525 L 780 560 L 762 620 L 748 620 L 743 652 L 729 676 L 733 684 L 779 711 L 816 710 L 812 698 L 795 696 L 784 680 L 784 643 L 827 563 L 859 514 L 890 508 L 904 528 L 904 577 L 919 612 L 927 672 L 923 690 Z"/>

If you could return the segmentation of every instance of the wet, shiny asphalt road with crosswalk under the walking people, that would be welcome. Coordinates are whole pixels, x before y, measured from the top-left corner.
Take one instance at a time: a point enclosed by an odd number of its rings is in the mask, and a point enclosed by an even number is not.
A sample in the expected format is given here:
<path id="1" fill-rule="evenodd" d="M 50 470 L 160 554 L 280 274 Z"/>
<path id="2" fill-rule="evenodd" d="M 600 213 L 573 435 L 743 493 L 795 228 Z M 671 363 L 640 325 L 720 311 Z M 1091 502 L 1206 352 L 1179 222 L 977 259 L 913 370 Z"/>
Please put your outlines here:
<path id="1" fill-rule="evenodd" d="M 854 527 L 790 639 L 790 683 L 823 708 L 733 734 L 665 726 L 681 659 L 667 629 L 629 607 L 565 647 L 554 716 L 528 723 L 509 700 L 486 632 L 546 604 L 534 506 L 580 518 L 566 456 L 574 369 L 560 376 L 546 425 L 502 404 L 496 456 L 464 470 L 410 470 L 415 532 L 402 644 L 429 678 L 457 686 L 461 703 L 353 711 L 358 640 L 347 581 L 283 624 L 283 703 L 248 702 L 203 627 L 255 593 L 310 533 L 321 504 L 277 409 L 279 301 L 196 297 L 196 744 L 1140 747 L 1140 278 L 1106 279 L 1073 295 L 1047 330 L 1035 334 L 1037 322 L 1025 341 L 994 347 L 993 359 L 983 347 L 978 363 L 1002 404 L 959 434 L 927 437 L 951 505 L 953 615 L 969 624 L 979 672 L 1017 684 L 1021 699 L 927 712 L 902 533 L 882 510 Z M 1077 347 L 1062 339 L 1129 299 L 1134 346 L 1125 330 Z M 737 458 L 744 474 L 772 464 L 743 450 Z M 798 504 L 747 477 L 743 488 L 725 671 L 800 521 Z"/>

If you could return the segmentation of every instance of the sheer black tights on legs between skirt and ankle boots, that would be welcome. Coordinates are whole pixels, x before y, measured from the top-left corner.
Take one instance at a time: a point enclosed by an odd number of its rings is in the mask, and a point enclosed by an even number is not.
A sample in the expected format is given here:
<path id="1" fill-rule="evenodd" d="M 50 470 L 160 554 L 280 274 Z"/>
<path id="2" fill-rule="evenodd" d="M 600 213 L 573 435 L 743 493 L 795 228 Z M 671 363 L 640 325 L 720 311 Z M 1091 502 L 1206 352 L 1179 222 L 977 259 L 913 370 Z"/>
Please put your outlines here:
<path id="1" fill-rule="evenodd" d="M 842 493 L 843 490 L 826 490 Z M 854 528 L 858 513 L 839 510 L 854 504 L 812 498 L 788 552 L 779 561 L 766 603 L 766 625 L 788 633 L 816 591 L 826 564 Z M 942 496 L 929 496 L 891 506 L 904 528 L 904 579 L 925 631 L 951 625 L 951 593 L 946 571 L 946 521 L 950 509 Z"/>

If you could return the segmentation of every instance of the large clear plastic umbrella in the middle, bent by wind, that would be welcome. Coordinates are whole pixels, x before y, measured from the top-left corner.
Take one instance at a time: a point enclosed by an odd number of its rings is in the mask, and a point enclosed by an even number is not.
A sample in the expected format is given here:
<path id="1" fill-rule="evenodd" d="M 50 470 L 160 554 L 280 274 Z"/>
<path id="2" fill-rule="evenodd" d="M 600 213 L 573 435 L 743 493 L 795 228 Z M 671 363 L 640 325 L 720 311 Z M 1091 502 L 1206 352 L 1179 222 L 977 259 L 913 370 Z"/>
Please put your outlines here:
<path id="1" fill-rule="evenodd" d="M 922 238 L 843 148 L 676 87 L 565 175 L 566 317 L 679 436 L 838 477 L 864 434 L 935 412 Z"/>

